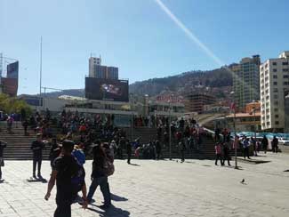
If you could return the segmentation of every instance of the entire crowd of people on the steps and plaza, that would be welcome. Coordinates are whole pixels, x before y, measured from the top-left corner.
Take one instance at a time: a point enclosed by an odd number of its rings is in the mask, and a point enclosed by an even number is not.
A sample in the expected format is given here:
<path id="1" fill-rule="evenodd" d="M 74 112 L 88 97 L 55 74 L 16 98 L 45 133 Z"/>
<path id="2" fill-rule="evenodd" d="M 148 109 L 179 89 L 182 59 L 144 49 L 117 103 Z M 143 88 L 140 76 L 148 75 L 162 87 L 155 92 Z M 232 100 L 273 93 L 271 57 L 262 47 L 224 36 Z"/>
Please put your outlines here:
<path id="1" fill-rule="evenodd" d="M 12 131 L 13 117 L 7 117 L 7 131 Z M 84 117 L 78 112 L 63 110 L 60 117 L 52 118 L 47 109 L 44 114 L 36 112 L 34 116 L 22 120 L 24 134 L 28 135 L 28 127 L 36 132 L 36 141 L 31 144 L 33 153 L 32 179 L 43 180 L 41 165 L 43 149 L 49 146 L 50 163 L 52 173 L 48 182 L 47 192 L 44 198 L 48 200 L 52 189 L 56 184 L 56 204 L 54 216 L 71 216 L 71 205 L 78 201 L 84 208 L 92 202 L 95 190 L 100 186 L 107 209 L 111 205 L 108 177 L 115 171 L 114 159 L 124 158 L 126 150 L 127 163 L 131 164 L 133 155 L 143 159 L 160 159 L 162 149 L 166 149 L 171 142 L 178 147 L 181 153 L 181 162 L 185 161 L 185 154 L 192 151 L 202 152 L 205 130 L 197 125 L 194 119 L 169 120 L 168 117 L 145 118 L 135 117 L 135 125 L 157 126 L 157 140 L 141 144 L 140 138 L 129 141 L 124 130 L 114 125 L 114 117 L 100 115 Z M 57 138 L 52 132 L 52 125 L 57 127 L 61 137 Z M 51 139 L 50 142 L 47 140 Z M 228 129 L 215 131 L 215 165 L 226 161 L 230 165 L 230 150 L 243 149 L 244 158 L 250 159 L 250 147 L 253 147 L 253 155 L 257 156 L 262 149 L 264 153 L 268 150 L 269 141 L 264 136 L 261 141 L 245 136 L 232 139 Z M 274 136 L 271 141 L 272 151 L 278 151 L 278 140 Z M 6 143 L 0 141 L 0 180 L 2 179 L 1 166 L 4 166 L 3 153 Z M 87 156 L 92 157 L 92 182 L 86 189 L 84 164 Z M 37 170 L 36 170 L 37 169 Z M 37 172 L 37 173 L 36 173 Z M 82 191 L 82 197 L 78 193 Z"/>

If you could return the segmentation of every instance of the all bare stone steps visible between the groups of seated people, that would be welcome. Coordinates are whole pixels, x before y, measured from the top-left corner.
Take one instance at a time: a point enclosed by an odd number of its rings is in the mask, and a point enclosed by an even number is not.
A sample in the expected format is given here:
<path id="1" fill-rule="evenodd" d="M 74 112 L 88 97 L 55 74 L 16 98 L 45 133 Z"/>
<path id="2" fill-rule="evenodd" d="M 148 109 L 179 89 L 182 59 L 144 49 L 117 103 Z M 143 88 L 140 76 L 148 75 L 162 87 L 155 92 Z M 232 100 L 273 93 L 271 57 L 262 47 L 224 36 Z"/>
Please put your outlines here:
<path id="1" fill-rule="evenodd" d="M 149 141 L 157 140 L 157 129 L 149 127 L 124 128 L 127 138 L 135 140 L 140 137 L 140 144 L 148 144 Z M 4 149 L 4 158 L 13 160 L 29 160 L 32 159 L 32 151 L 30 150 L 31 142 L 36 140 L 36 133 L 28 130 L 28 135 L 24 135 L 24 130 L 20 122 L 15 122 L 12 127 L 12 133 L 7 133 L 6 123 L 0 122 L 0 140 L 7 142 L 7 148 Z M 44 149 L 44 159 L 49 158 L 50 147 Z M 125 150 L 124 150 L 125 153 Z M 125 156 L 125 155 L 124 155 Z M 162 149 L 162 157 L 169 158 L 169 147 Z M 180 158 L 181 152 L 177 141 L 172 139 L 172 158 Z M 211 134 L 203 137 L 201 151 L 187 149 L 185 151 L 186 158 L 195 159 L 211 159 L 214 157 L 214 142 Z"/>

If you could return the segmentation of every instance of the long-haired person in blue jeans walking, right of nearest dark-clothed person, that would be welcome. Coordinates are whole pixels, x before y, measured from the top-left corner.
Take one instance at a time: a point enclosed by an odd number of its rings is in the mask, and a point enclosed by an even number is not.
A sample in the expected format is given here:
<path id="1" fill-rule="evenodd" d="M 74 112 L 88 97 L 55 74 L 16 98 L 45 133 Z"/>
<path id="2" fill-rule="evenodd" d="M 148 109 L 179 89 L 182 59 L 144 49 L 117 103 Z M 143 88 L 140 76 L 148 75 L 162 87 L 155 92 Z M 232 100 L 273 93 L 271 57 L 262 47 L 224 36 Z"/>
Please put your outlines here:
<path id="1" fill-rule="evenodd" d="M 105 173 L 106 154 L 104 150 L 97 145 L 93 148 L 92 162 L 92 184 L 87 195 L 88 203 L 92 202 L 95 190 L 100 186 L 100 191 L 104 198 L 104 205 L 100 205 L 101 209 L 108 209 L 111 205 L 110 191 L 108 188 L 108 176 Z"/>

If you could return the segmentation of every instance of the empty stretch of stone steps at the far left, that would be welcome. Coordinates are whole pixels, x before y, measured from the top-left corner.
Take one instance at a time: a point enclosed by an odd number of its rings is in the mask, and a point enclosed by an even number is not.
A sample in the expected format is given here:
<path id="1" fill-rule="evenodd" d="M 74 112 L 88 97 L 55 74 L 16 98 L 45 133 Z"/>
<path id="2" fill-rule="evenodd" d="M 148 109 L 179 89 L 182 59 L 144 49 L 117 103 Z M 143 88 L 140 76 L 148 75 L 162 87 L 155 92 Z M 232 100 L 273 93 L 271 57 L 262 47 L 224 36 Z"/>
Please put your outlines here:
<path id="1" fill-rule="evenodd" d="M 29 129 L 29 128 L 28 128 Z M 28 130 L 28 135 L 24 135 L 24 129 L 20 122 L 14 122 L 12 133 L 6 130 L 6 123 L 0 122 L 0 141 L 7 142 L 4 149 L 4 159 L 9 160 L 30 160 L 32 151 L 30 150 L 31 142 L 36 140 L 36 133 Z M 43 158 L 49 158 L 50 148 L 46 147 L 43 151 Z"/>

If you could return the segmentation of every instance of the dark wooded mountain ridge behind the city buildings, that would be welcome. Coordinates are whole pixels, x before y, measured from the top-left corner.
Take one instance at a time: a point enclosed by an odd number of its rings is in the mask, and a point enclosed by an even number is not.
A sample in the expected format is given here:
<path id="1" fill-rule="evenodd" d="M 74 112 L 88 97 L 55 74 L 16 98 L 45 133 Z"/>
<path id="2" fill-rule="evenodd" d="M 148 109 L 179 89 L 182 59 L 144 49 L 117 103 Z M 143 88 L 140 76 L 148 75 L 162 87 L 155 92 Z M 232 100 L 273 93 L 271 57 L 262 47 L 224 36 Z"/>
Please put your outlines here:
<path id="1" fill-rule="evenodd" d="M 214 92 L 218 97 L 221 97 L 224 96 L 224 91 L 229 90 L 232 85 L 232 75 L 223 67 L 207 71 L 189 71 L 176 76 L 151 78 L 135 82 L 130 84 L 129 92 L 137 95 L 149 94 L 149 96 L 156 96 L 161 92 L 175 92 L 176 94 L 183 95 L 186 92 L 204 92 L 205 90 L 206 92 Z M 46 92 L 45 95 L 52 98 L 58 98 L 60 95 L 84 97 L 84 89 Z"/>

